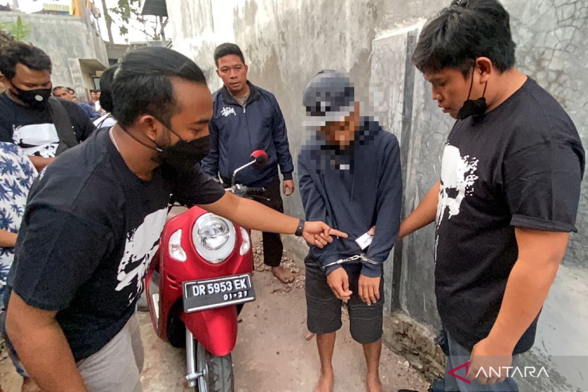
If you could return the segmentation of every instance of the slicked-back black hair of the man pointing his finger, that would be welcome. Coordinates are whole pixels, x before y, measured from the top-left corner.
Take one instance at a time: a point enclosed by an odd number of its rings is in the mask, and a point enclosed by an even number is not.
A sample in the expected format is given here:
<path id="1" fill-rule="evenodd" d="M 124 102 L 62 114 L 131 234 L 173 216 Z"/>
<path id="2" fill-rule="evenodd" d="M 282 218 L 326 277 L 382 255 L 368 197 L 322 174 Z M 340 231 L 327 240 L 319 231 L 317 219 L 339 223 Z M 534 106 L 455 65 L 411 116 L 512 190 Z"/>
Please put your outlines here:
<path id="1" fill-rule="evenodd" d="M 168 126 L 180 108 L 171 78 L 206 85 L 202 70 L 172 49 L 146 46 L 127 53 L 112 82 L 112 115 L 129 126 L 142 114 L 150 114 Z"/>

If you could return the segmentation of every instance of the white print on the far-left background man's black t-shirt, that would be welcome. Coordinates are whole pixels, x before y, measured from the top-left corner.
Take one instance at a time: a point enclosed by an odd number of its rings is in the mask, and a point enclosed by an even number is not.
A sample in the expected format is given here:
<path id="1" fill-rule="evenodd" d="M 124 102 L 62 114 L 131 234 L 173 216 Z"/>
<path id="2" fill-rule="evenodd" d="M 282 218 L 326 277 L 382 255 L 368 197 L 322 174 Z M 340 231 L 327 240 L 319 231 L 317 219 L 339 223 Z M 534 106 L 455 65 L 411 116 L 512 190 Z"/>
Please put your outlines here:
<path id="1" fill-rule="evenodd" d="M 59 145 L 59 136 L 54 124 L 32 124 L 14 127 L 12 140 L 26 155 L 54 158 Z"/>

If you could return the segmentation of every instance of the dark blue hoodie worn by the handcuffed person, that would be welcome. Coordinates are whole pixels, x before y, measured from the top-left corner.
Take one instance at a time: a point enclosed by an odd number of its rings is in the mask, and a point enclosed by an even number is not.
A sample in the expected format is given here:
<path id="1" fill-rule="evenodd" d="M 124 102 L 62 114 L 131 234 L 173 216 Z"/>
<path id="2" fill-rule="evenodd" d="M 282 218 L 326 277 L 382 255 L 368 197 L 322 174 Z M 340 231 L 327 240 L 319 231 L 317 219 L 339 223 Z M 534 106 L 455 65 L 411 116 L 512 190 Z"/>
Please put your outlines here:
<path id="1" fill-rule="evenodd" d="M 396 136 L 372 118 L 361 118 L 353 144 L 339 150 L 319 135 L 303 146 L 298 158 L 300 195 L 307 220 L 322 220 L 349 234 L 310 256 L 321 266 L 362 253 L 355 240 L 376 226 L 372 244 L 364 250 L 375 265 L 362 261 L 362 274 L 382 276 L 382 263 L 396 242 L 402 206 L 402 172 Z M 340 264 L 326 268 L 328 274 Z"/>

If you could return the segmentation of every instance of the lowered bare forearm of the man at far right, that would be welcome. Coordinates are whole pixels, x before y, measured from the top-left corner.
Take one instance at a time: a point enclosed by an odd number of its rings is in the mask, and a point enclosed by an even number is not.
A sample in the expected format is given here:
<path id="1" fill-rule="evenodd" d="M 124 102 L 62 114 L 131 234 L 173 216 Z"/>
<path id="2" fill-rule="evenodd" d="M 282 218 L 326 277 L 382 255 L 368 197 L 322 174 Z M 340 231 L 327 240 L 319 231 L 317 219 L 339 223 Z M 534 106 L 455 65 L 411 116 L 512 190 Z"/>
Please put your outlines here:
<path id="1" fill-rule="evenodd" d="M 559 263 L 537 260 L 515 263 L 506 284 L 498 317 L 488 334 L 489 339 L 514 350 L 524 331 L 529 328 L 555 279 Z"/>

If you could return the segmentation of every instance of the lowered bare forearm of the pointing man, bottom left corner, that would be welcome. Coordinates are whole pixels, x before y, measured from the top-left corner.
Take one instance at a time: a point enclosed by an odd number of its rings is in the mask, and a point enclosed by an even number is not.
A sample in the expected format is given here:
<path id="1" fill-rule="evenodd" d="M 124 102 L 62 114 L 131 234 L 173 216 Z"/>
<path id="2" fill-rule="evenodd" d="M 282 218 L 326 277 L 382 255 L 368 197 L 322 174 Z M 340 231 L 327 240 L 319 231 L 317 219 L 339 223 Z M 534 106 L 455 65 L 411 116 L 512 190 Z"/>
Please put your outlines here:
<path id="1" fill-rule="evenodd" d="M 18 316 L 17 316 L 18 317 Z M 26 326 L 9 314 L 6 334 L 27 373 L 43 392 L 85 392 L 82 376 L 59 324 Z"/>

